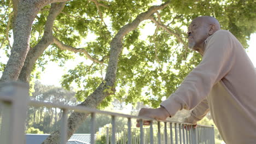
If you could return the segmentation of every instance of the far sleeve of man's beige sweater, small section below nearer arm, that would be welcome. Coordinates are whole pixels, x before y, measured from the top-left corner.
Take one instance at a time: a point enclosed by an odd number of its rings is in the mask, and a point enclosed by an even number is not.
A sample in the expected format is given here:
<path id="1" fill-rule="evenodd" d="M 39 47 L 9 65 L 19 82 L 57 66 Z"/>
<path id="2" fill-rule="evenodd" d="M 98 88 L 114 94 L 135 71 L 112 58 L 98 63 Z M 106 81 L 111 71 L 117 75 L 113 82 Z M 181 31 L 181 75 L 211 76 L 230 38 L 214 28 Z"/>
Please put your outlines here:
<path id="1" fill-rule="evenodd" d="M 188 118 L 185 118 L 184 122 L 197 124 L 198 121 L 203 119 L 210 111 L 207 99 L 203 99 L 190 113 Z"/>

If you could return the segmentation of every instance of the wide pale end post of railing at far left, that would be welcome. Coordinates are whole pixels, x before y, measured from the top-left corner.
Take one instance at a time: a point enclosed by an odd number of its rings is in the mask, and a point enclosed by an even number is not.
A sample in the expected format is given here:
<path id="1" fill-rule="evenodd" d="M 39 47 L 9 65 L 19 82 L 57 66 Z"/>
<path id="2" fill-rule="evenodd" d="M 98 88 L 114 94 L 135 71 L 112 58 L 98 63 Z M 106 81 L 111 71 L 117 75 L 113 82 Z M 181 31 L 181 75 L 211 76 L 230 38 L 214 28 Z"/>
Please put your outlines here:
<path id="1" fill-rule="evenodd" d="M 11 101 L 3 102 L 1 143 L 26 143 L 25 122 L 28 106 L 29 85 L 22 82 L 3 82 L 0 84 L 0 97 L 10 97 Z"/>

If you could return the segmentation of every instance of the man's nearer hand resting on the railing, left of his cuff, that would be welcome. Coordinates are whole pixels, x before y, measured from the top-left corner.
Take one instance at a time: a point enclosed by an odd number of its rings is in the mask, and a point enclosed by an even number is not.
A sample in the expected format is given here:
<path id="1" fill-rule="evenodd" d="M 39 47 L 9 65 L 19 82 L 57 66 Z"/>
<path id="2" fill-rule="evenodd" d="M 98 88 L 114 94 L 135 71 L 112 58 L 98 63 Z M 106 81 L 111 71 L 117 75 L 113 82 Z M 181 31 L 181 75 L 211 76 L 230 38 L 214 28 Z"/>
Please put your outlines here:
<path id="1" fill-rule="evenodd" d="M 170 114 L 165 107 L 159 107 L 158 109 L 142 108 L 139 110 L 138 116 L 154 118 L 156 121 L 165 121 Z M 149 121 L 143 121 L 143 125 L 149 125 Z M 136 127 L 139 127 L 139 119 L 137 119 Z"/>

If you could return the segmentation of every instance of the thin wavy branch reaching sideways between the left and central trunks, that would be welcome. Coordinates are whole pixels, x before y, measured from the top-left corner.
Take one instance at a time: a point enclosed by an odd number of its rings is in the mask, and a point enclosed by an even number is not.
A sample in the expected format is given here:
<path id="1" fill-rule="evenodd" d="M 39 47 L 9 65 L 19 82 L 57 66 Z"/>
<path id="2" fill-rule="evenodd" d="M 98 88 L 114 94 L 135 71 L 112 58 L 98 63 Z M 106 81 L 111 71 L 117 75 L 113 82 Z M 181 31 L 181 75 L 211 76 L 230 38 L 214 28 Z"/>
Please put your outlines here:
<path id="1" fill-rule="evenodd" d="M 69 45 L 65 45 L 65 44 L 61 43 L 61 41 L 55 37 L 54 37 L 54 44 L 56 44 L 61 50 L 68 50 L 68 51 L 72 51 L 74 53 L 77 53 L 77 52 L 84 53 L 84 55 L 88 59 L 90 59 L 92 62 L 103 64 L 103 59 L 101 61 L 99 61 L 98 59 L 91 57 L 89 55 L 89 53 L 83 48 L 75 48 L 75 47 L 72 47 Z"/>

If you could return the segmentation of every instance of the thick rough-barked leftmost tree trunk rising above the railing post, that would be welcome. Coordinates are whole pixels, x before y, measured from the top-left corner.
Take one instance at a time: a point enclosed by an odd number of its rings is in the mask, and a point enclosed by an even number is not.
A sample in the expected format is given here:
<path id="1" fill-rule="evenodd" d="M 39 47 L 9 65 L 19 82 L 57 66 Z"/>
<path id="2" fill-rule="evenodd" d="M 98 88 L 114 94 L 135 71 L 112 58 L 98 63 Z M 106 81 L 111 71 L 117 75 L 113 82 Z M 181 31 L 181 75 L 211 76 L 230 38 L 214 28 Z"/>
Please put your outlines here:
<path id="1" fill-rule="evenodd" d="M 19 2 L 18 14 L 13 28 L 13 49 L 11 49 L 11 54 L 3 71 L 1 82 L 18 80 L 18 76 L 21 68 L 24 65 L 27 52 L 30 49 L 31 27 L 38 11 L 39 8 L 31 2 Z"/>

